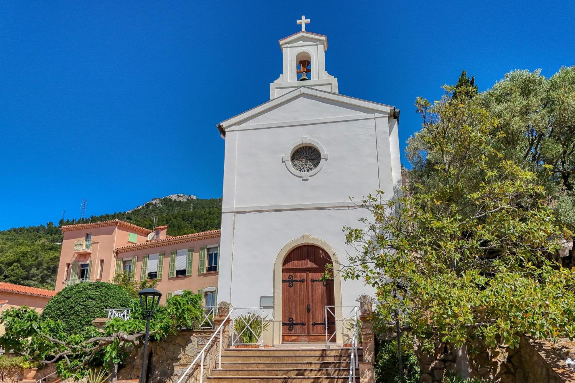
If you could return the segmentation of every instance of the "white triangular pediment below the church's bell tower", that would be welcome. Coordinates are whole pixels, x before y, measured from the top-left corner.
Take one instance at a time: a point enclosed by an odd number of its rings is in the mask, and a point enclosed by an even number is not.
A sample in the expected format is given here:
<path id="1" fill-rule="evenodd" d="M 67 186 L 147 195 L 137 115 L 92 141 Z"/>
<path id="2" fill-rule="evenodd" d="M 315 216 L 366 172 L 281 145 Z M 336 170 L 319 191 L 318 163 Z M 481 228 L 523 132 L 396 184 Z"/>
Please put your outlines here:
<path id="1" fill-rule="evenodd" d="M 282 122 L 346 118 L 362 114 L 390 114 L 393 106 L 378 104 L 342 94 L 300 87 L 289 93 L 229 118 L 218 125 L 225 131 L 239 125 L 260 125 Z"/>

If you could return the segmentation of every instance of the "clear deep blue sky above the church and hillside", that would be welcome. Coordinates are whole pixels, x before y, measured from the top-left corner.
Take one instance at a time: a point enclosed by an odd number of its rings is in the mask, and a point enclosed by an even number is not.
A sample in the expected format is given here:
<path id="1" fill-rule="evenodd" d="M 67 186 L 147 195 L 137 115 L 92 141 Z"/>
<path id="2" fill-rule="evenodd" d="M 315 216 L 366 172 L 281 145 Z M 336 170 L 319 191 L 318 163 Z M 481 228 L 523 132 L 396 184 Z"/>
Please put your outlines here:
<path id="1" fill-rule="evenodd" d="M 223 121 L 269 99 L 278 40 L 311 19 L 340 93 L 401 109 L 400 145 L 463 69 L 575 64 L 575 2 L 2 1 L 0 229 L 221 197 Z M 404 160 L 405 162 L 405 160 Z M 370 191 L 370 190 L 366 190 Z"/>

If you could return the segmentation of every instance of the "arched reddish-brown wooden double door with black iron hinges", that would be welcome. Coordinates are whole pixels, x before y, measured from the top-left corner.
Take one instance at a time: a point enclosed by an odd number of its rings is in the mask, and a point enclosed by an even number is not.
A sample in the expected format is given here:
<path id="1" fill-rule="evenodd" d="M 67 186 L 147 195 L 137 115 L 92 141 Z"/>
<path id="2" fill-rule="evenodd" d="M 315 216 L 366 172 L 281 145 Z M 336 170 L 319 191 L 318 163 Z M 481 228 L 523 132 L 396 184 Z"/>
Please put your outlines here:
<path id="1" fill-rule="evenodd" d="M 331 262 L 327 252 L 315 245 L 302 245 L 287 254 L 282 267 L 282 343 L 325 342 L 325 306 L 333 305 L 335 297 L 333 281 L 320 278 Z M 329 334 L 334 326 L 335 318 L 328 313 Z"/>

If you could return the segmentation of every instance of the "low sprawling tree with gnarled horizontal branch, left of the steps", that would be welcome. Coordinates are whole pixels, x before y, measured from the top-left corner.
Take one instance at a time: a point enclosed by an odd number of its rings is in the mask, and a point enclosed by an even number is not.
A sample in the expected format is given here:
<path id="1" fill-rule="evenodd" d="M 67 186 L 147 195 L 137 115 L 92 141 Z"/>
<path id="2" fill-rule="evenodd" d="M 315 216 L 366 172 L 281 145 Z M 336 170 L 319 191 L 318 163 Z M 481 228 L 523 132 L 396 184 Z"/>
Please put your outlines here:
<path id="1" fill-rule="evenodd" d="M 0 323 L 6 333 L 0 346 L 13 349 L 26 361 L 39 365 L 56 365 L 59 377 L 79 380 L 94 369 L 105 369 L 125 361 L 129 348 L 140 346 L 144 335 L 145 316 L 135 300 L 129 320 L 114 318 L 99 332 L 93 325 L 81 334 L 64 330 L 59 320 L 44 318 L 33 309 L 22 306 L 2 312 Z M 150 323 L 151 340 L 175 334 L 181 328 L 193 328 L 202 317 L 202 297 L 189 291 L 160 305 Z"/>

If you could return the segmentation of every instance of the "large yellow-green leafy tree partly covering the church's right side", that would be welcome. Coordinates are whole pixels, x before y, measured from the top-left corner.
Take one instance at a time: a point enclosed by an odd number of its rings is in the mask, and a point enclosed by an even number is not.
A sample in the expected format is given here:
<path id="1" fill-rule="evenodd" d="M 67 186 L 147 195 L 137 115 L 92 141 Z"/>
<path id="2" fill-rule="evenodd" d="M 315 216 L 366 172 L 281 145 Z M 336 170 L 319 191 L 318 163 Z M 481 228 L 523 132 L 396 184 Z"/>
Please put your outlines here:
<path id="1" fill-rule="evenodd" d="M 409 186 L 398 200 L 380 192 L 362 202 L 369 217 L 344 229 L 358 250 L 345 276 L 373 286 L 381 320 L 397 311 L 424 348 L 458 347 L 465 376 L 467 344 L 573 338 L 575 269 L 549 260 L 570 232 L 541 179 L 493 147 L 497 119 L 453 90 L 417 99 Z"/>

